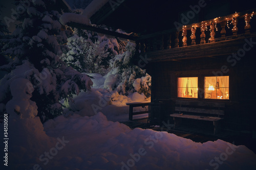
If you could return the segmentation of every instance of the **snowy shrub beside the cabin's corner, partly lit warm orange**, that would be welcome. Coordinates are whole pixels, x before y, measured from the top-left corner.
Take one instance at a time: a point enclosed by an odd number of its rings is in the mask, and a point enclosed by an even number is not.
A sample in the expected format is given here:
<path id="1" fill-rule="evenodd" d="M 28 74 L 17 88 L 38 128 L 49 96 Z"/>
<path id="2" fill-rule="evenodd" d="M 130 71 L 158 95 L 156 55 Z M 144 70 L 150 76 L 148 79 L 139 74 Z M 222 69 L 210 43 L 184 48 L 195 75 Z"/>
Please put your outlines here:
<path id="1" fill-rule="evenodd" d="M 144 93 L 145 96 L 151 95 L 151 77 L 146 74 L 145 70 L 142 70 L 137 65 L 134 65 L 131 58 L 135 53 L 135 44 L 127 43 L 126 52 L 115 56 L 110 61 L 111 71 L 106 76 L 115 77 L 118 79 L 112 79 L 108 82 L 108 86 L 105 88 L 116 89 L 120 94 L 129 94 L 130 92 Z M 107 79 L 106 79 L 107 80 Z"/>

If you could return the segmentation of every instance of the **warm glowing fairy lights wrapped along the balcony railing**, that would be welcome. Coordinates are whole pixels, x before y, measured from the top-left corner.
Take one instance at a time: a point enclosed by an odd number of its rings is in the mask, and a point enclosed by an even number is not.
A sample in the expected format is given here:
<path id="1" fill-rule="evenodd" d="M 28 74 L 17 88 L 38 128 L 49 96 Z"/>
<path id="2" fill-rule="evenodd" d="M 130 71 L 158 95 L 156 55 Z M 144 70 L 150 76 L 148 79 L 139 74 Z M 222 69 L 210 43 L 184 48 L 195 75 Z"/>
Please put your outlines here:
<path id="1" fill-rule="evenodd" d="M 248 26 L 249 25 L 249 21 L 254 15 L 254 11 L 251 13 L 251 14 L 245 14 L 245 17 L 244 17 L 244 20 L 245 20 L 245 25 Z M 226 27 L 228 29 L 230 29 L 230 25 L 232 24 L 233 28 L 232 28 L 232 31 L 236 32 L 237 31 L 237 17 L 239 16 L 239 14 L 236 12 L 232 15 L 231 19 L 229 18 L 226 18 Z M 218 27 L 217 27 L 217 23 L 218 23 L 218 19 L 220 17 L 217 17 L 214 19 L 214 21 L 209 21 L 208 22 L 208 26 L 207 26 L 207 22 L 206 21 L 202 21 L 201 22 L 201 31 L 211 31 L 211 30 L 216 30 L 218 31 Z M 212 22 L 214 22 L 214 24 L 212 24 Z M 208 29 L 209 27 L 209 29 Z M 212 28 L 212 27 L 215 27 L 215 28 Z M 186 26 L 183 26 L 182 27 L 182 36 L 184 36 L 184 32 L 185 32 L 185 29 L 186 29 Z M 194 29 L 197 29 L 197 25 L 193 25 L 191 26 L 191 35 L 190 35 L 190 38 L 192 36 L 194 36 L 195 32 L 193 31 Z"/>

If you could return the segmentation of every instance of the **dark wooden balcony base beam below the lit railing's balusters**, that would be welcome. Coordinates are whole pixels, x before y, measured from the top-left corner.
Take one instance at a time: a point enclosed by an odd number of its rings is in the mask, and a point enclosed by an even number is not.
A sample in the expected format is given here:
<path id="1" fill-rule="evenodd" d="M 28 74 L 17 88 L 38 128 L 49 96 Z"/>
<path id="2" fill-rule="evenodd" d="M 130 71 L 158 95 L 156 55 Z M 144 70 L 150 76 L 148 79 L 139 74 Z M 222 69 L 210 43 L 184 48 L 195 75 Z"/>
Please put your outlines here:
<path id="1" fill-rule="evenodd" d="M 251 41 L 256 42 L 256 34 L 219 42 L 137 53 L 134 56 L 134 59 L 140 60 L 139 56 L 143 57 L 146 55 L 146 58 L 148 59 L 147 61 L 153 63 L 163 61 L 181 61 L 184 59 L 202 57 L 228 56 L 232 55 L 232 53 L 237 53 L 240 49 L 244 50 L 244 48 L 251 48 L 251 45 L 253 45 L 250 43 Z"/>

